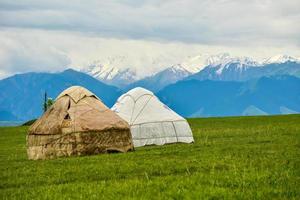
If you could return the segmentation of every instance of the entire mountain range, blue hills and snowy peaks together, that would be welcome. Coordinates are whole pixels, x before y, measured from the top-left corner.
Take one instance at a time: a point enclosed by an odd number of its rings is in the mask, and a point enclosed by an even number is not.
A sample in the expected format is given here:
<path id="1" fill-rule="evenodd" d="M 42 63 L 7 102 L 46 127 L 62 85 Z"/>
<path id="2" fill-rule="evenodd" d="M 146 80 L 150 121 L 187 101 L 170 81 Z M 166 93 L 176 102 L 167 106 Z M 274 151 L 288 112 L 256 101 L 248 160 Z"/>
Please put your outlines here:
<path id="1" fill-rule="evenodd" d="M 107 106 L 127 90 L 145 87 L 185 117 L 300 112 L 300 62 L 289 56 L 263 62 L 228 54 L 198 56 L 140 80 L 130 69 L 95 66 L 85 72 L 33 72 L 0 80 L 0 121 L 40 116 L 44 93 L 55 98 L 71 85 L 86 87 Z M 107 73 L 100 73 L 103 68 Z M 109 85 L 117 82 L 119 87 Z"/>

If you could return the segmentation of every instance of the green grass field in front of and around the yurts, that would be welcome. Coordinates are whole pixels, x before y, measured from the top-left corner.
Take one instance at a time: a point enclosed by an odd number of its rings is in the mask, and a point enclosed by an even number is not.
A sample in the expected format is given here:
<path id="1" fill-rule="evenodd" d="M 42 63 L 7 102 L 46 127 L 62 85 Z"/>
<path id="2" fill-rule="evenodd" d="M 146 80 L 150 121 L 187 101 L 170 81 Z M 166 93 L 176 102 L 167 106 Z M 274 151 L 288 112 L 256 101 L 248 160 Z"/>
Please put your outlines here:
<path id="1" fill-rule="evenodd" d="M 30 161 L 0 128 L 1 199 L 300 199 L 300 115 L 189 120 L 194 144 Z"/>

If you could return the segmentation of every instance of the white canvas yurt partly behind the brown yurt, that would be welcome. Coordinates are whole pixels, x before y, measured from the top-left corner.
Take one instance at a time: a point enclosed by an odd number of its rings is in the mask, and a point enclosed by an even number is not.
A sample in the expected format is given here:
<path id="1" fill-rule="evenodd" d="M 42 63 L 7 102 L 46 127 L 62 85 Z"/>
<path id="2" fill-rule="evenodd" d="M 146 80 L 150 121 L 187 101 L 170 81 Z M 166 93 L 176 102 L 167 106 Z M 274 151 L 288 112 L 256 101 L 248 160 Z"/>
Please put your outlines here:
<path id="1" fill-rule="evenodd" d="M 112 110 L 129 123 L 135 147 L 194 142 L 186 119 L 144 88 L 123 94 Z"/>

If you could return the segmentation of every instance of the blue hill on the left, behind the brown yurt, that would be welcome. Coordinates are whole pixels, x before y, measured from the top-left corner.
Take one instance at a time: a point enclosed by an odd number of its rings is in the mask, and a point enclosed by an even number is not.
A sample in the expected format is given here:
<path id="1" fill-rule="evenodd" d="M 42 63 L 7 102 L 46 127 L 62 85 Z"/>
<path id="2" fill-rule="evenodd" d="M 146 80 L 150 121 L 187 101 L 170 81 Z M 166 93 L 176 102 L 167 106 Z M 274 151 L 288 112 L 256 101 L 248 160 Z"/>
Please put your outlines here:
<path id="1" fill-rule="evenodd" d="M 72 69 L 61 73 L 25 73 L 0 80 L 0 120 L 30 120 L 42 114 L 45 91 L 49 97 L 80 85 L 94 92 L 107 106 L 112 106 L 121 91 Z"/>

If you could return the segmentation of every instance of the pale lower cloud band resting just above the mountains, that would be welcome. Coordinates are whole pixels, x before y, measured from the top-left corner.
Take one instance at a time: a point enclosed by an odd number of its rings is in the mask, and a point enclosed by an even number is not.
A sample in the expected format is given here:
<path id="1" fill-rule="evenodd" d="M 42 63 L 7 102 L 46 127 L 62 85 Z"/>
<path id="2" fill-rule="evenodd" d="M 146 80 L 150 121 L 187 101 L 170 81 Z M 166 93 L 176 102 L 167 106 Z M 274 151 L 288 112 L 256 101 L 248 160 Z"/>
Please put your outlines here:
<path id="1" fill-rule="evenodd" d="M 139 76 L 156 72 L 190 56 L 229 52 L 262 59 L 274 54 L 300 55 L 297 46 L 226 46 L 183 42 L 109 39 L 77 32 L 14 29 L 0 31 L 2 77 L 28 71 L 80 69 L 94 60 L 124 59 L 122 65 Z M 122 58 L 120 58 L 122 57 Z"/>

